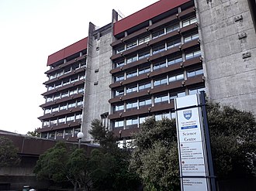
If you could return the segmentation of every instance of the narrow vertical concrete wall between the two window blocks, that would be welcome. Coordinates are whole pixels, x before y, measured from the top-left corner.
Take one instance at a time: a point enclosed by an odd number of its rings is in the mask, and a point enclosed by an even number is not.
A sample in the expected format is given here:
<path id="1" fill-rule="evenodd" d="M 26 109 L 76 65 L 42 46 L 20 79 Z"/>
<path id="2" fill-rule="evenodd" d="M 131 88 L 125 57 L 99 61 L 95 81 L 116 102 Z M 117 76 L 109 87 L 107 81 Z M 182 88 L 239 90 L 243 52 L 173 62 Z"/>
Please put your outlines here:
<path id="1" fill-rule="evenodd" d="M 95 31 L 92 23 L 89 26 L 88 36 L 88 58 L 87 73 L 85 82 L 85 108 L 82 131 L 85 134 L 85 141 L 92 141 L 88 134 L 93 119 L 109 112 L 109 99 L 112 56 L 112 28 L 111 25 L 102 27 Z M 98 71 L 97 71 L 98 70 Z"/>

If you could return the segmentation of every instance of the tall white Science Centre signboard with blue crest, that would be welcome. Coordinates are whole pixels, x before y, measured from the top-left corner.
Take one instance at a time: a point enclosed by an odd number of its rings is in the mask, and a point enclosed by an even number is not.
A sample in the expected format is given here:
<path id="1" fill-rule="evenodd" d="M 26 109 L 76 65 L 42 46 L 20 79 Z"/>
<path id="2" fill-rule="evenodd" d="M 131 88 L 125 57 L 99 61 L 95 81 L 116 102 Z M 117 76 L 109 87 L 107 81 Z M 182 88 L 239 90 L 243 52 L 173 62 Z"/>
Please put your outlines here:
<path id="1" fill-rule="evenodd" d="M 175 100 L 178 151 L 183 191 L 209 190 L 205 144 L 197 95 Z M 193 177 L 195 176 L 195 177 Z M 202 177 L 202 178 L 201 178 Z"/>

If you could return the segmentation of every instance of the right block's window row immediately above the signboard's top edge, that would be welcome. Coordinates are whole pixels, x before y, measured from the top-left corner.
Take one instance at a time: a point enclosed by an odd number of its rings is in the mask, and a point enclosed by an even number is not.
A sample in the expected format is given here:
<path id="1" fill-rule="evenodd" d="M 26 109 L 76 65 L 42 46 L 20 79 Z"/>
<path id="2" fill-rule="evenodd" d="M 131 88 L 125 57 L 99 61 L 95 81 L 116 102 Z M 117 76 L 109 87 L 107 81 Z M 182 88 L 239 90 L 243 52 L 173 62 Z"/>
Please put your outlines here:
<path id="1" fill-rule="evenodd" d="M 188 94 L 199 94 L 200 91 L 205 90 L 205 87 L 192 88 L 188 90 Z M 123 104 L 117 104 L 113 107 L 115 111 L 127 111 L 130 109 L 139 109 L 140 107 L 151 107 L 154 104 L 159 103 L 170 103 L 171 100 L 174 100 L 177 97 L 184 97 L 186 95 L 185 90 L 177 92 L 169 92 L 165 94 L 155 95 L 152 97 L 147 97 L 144 99 L 138 99 L 136 101 L 126 101 Z"/>

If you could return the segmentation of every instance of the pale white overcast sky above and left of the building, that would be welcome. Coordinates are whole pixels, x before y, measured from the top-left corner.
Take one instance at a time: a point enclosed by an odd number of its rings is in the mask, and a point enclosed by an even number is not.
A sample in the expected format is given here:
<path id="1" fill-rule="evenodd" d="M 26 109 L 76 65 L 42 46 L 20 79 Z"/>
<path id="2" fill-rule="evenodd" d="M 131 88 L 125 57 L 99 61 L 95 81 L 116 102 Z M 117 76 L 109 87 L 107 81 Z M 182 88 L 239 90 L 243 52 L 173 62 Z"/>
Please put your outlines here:
<path id="1" fill-rule="evenodd" d="M 47 57 L 105 26 L 112 9 L 130 15 L 157 0 L 0 0 L 0 129 L 26 134 L 41 127 Z"/>

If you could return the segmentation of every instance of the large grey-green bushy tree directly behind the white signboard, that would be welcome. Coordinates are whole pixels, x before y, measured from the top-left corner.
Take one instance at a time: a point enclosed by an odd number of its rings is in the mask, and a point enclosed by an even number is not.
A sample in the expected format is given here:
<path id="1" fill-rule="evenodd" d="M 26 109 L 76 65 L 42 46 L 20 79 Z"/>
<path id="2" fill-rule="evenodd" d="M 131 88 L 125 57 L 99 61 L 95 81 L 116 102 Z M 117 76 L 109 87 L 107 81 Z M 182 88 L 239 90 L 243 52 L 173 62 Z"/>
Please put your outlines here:
<path id="1" fill-rule="evenodd" d="M 255 118 L 234 107 L 208 103 L 207 114 L 218 179 L 255 176 Z M 178 152 L 175 120 L 148 119 L 134 135 L 130 168 L 138 173 L 145 190 L 178 190 Z"/>

